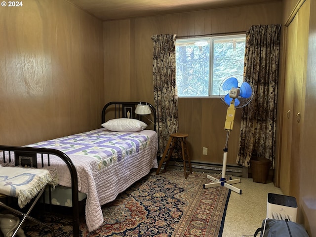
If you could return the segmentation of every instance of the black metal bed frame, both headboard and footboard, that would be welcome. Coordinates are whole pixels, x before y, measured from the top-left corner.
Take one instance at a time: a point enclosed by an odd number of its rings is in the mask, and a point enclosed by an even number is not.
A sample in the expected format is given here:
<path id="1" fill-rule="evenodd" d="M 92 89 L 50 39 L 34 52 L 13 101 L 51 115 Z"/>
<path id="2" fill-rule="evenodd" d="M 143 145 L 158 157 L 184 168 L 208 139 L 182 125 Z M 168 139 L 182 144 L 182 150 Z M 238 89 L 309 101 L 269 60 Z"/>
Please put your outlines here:
<path id="1" fill-rule="evenodd" d="M 136 106 L 138 104 L 141 104 L 142 102 L 121 102 L 121 101 L 114 101 L 107 103 L 102 110 L 102 123 L 105 122 L 105 115 L 108 110 L 114 110 L 115 111 L 115 118 L 125 118 L 124 109 L 128 108 L 134 111 Z M 147 102 L 143 102 L 143 104 L 146 103 L 149 105 L 149 107 L 152 110 L 153 116 L 154 116 L 154 130 L 156 131 L 156 110 L 153 105 Z M 112 107 L 111 107 L 112 106 Z M 139 120 L 142 120 L 142 116 L 135 115 L 132 118 L 138 118 Z M 30 154 L 33 154 L 37 156 L 38 154 L 41 155 L 42 165 L 43 165 L 43 156 L 47 155 L 48 159 L 48 166 L 49 166 L 49 155 L 54 155 L 59 158 L 61 158 L 67 165 L 70 174 L 71 174 L 71 185 L 72 185 L 72 203 L 73 203 L 73 235 L 74 237 L 79 237 L 79 197 L 78 197 L 78 176 L 77 176 L 77 170 L 72 162 L 72 160 L 63 152 L 56 150 L 56 149 L 47 149 L 47 148 L 36 148 L 36 147 L 18 147 L 18 146 L 5 146 L 0 145 L 0 152 L 2 151 L 3 154 L 3 163 L 11 162 L 11 154 L 12 153 L 19 153 L 21 154 L 27 154 L 26 156 L 30 156 Z M 32 156 L 32 155 L 31 155 Z M 17 213 L 18 214 L 18 213 Z M 33 220 L 34 218 L 28 217 L 29 219 Z"/>

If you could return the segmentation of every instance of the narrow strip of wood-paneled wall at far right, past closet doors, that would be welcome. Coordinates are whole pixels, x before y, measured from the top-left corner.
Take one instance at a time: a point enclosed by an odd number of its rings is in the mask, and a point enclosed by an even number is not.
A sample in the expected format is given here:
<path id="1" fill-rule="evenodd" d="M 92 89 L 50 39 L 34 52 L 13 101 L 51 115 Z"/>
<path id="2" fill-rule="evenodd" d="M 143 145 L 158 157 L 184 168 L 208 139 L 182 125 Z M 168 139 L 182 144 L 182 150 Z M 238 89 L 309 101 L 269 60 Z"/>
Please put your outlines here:
<path id="1" fill-rule="evenodd" d="M 310 0 L 305 113 L 300 141 L 300 212 L 310 237 L 316 236 L 316 1 Z"/>

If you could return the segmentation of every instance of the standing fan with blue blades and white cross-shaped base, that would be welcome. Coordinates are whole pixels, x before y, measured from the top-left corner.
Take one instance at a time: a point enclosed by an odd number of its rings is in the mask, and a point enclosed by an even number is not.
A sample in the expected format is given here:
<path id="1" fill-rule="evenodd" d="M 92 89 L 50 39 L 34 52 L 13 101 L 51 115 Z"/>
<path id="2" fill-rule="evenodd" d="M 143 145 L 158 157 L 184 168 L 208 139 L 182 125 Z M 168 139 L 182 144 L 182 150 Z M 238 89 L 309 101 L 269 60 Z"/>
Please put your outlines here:
<path id="1" fill-rule="evenodd" d="M 223 150 L 222 176 L 221 179 L 217 179 L 207 175 L 207 178 L 211 179 L 211 183 L 204 184 L 204 189 L 221 185 L 241 194 L 240 189 L 232 186 L 232 184 L 240 183 L 240 179 L 226 180 L 228 139 L 230 131 L 233 130 L 236 109 L 248 105 L 253 98 L 253 94 L 253 85 L 251 81 L 242 75 L 232 75 L 222 81 L 219 88 L 219 95 L 224 104 L 229 106 L 224 126 L 224 129 L 227 131 L 227 135 L 226 144 Z"/>

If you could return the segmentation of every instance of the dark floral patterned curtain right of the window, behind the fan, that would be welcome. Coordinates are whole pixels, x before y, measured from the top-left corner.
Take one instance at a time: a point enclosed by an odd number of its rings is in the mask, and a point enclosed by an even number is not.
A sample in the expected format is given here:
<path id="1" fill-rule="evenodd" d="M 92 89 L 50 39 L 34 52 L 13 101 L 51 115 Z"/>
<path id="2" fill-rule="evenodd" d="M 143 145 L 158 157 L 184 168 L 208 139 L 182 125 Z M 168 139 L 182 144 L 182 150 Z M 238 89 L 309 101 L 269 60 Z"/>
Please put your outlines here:
<path id="1" fill-rule="evenodd" d="M 276 152 L 276 101 L 281 25 L 256 25 L 246 33 L 244 76 L 254 97 L 241 111 L 237 163 L 248 167 L 252 156 L 272 160 Z"/>

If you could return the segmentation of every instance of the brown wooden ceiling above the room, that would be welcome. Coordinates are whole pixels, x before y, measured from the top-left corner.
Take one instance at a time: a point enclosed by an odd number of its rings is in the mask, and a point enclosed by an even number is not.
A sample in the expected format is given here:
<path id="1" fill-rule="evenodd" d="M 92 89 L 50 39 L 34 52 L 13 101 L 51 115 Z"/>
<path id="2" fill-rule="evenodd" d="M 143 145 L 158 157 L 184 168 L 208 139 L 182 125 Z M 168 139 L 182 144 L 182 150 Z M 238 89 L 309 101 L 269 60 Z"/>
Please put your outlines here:
<path id="1" fill-rule="evenodd" d="M 257 4 L 277 0 L 67 0 L 101 20 Z M 280 1 L 280 0 L 278 0 Z"/>

